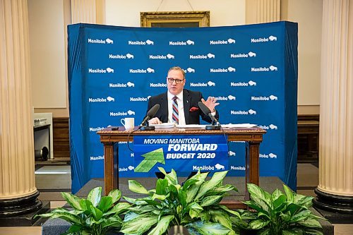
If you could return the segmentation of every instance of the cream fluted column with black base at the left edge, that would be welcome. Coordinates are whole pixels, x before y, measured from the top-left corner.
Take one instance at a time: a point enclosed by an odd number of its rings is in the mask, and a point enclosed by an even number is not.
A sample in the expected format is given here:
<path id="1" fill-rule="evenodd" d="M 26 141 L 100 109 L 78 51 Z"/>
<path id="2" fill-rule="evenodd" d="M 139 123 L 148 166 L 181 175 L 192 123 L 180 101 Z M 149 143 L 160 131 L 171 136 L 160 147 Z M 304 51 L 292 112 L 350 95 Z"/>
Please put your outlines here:
<path id="1" fill-rule="evenodd" d="M 35 188 L 26 0 L 0 0 L 0 217 L 42 206 Z"/>

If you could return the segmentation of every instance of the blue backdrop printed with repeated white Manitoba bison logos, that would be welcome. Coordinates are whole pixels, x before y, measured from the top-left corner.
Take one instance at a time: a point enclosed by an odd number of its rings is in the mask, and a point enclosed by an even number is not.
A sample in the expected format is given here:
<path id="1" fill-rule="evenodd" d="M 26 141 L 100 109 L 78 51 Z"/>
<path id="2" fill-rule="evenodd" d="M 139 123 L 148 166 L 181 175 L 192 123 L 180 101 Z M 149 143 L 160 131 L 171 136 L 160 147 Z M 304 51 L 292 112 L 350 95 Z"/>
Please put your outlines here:
<path id="1" fill-rule="evenodd" d="M 267 133 L 260 175 L 297 184 L 297 23 L 214 28 L 68 26 L 72 191 L 104 176 L 97 131 L 145 116 L 148 98 L 167 90 L 167 71 L 186 71 L 186 88 L 217 97 L 220 123 L 256 123 Z M 228 176 L 244 176 L 244 143 L 229 145 Z M 119 176 L 133 152 L 119 144 Z"/>

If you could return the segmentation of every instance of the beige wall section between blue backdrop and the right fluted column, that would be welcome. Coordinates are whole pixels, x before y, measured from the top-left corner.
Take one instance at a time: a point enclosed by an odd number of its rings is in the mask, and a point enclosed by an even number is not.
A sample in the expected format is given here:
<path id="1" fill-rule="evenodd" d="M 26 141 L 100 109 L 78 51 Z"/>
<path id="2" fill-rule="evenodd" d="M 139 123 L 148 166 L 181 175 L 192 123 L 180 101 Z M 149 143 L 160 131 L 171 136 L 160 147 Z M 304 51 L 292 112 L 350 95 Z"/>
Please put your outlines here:
<path id="1" fill-rule="evenodd" d="M 323 0 L 288 0 L 286 20 L 298 23 L 298 114 L 319 114 Z"/>

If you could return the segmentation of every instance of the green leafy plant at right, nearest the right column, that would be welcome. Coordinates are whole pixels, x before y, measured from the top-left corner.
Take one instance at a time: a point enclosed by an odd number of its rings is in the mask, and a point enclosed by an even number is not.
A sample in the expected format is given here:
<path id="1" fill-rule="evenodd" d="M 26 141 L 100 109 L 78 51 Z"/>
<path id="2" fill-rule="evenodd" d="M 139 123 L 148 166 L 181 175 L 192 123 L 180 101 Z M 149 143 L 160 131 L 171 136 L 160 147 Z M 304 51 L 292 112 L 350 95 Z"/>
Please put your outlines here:
<path id="1" fill-rule="evenodd" d="M 294 193 L 283 185 L 284 192 L 276 189 L 272 194 L 253 183 L 247 184 L 251 200 L 244 202 L 252 210 L 239 210 L 239 217 L 232 217 L 240 229 L 253 229 L 257 234 L 323 234 L 318 219 L 309 210 L 313 197 Z"/>

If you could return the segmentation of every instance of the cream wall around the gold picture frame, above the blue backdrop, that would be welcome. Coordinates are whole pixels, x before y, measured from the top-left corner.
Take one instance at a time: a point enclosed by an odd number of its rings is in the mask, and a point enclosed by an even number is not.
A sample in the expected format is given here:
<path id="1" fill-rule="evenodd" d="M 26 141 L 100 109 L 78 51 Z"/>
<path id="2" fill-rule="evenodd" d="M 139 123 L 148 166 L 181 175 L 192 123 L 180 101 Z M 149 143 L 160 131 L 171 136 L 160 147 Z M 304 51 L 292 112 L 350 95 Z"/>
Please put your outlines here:
<path id="1" fill-rule="evenodd" d="M 141 11 L 210 11 L 211 26 L 245 23 L 245 0 L 106 0 L 105 3 L 107 25 L 139 27 Z"/>

